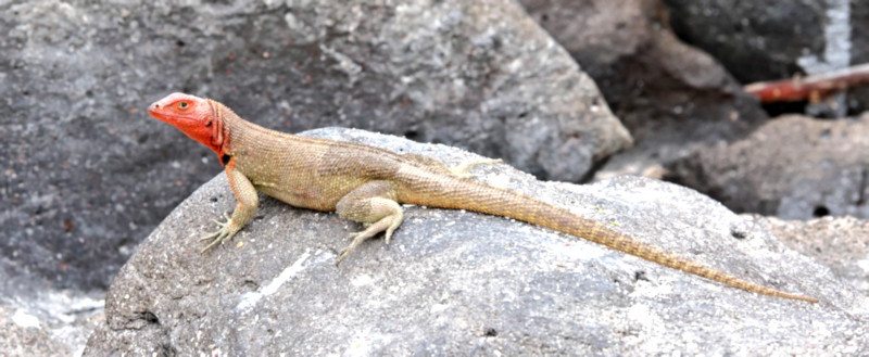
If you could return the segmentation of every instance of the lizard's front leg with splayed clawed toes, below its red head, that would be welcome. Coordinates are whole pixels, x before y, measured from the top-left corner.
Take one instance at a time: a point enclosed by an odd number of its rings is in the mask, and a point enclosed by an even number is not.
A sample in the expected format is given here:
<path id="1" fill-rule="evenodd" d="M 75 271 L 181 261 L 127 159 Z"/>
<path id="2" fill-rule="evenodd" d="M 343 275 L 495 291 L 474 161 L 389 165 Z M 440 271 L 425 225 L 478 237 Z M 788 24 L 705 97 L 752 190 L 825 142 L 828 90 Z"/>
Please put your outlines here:
<path id="1" fill-rule="evenodd" d="M 232 161 L 226 165 L 226 177 L 229 178 L 229 187 L 232 188 L 232 193 L 236 195 L 238 204 L 236 209 L 232 211 L 232 217 L 224 214 L 226 217 L 225 222 L 214 221 L 221 226 L 221 229 L 201 239 L 201 241 L 211 241 L 209 245 L 202 248 L 202 252 L 207 251 L 217 243 L 223 244 L 231 240 L 244 225 L 251 221 L 253 214 L 256 213 L 256 206 L 260 205 L 260 197 L 256 195 L 256 189 L 253 183 L 236 168 Z"/>

